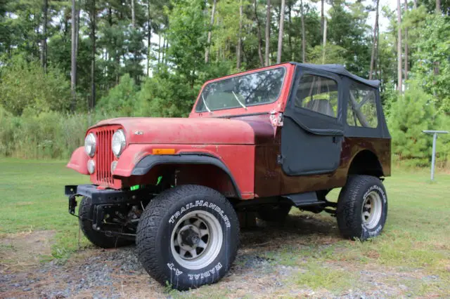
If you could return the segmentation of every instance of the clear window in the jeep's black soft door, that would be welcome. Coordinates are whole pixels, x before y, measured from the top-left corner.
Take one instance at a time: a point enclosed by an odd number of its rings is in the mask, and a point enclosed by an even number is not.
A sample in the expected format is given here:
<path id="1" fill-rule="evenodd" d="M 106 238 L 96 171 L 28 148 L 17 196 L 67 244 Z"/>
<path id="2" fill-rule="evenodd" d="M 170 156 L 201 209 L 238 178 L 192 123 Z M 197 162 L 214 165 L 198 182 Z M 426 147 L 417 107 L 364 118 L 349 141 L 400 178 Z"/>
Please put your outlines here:
<path id="1" fill-rule="evenodd" d="M 327 77 L 305 74 L 295 95 L 295 106 L 336 117 L 338 112 L 338 82 Z"/>

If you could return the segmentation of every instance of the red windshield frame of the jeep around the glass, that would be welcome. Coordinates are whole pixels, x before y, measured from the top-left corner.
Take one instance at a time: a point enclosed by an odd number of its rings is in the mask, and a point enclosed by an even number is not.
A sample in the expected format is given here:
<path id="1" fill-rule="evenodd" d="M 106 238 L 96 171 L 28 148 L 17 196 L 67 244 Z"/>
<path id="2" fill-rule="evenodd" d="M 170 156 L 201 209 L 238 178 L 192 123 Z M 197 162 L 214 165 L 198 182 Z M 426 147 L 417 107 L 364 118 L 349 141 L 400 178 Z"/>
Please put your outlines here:
<path id="1" fill-rule="evenodd" d="M 224 80 L 228 80 L 228 79 L 233 79 L 233 78 L 238 78 L 238 77 L 245 77 L 248 76 L 250 74 L 257 74 L 260 72 L 267 72 L 273 69 L 283 69 L 283 78 L 282 78 L 282 84 L 281 84 L 281 88 L 278 91 L 278 95 L 276 95 L 276 98 L 274 98 L 274 100 L 271 100 L 269 102 L 259 102 L 259 103 L 255 103 L 255 104 L 247 104 L 245 103 L 245 107 L 242 107 L 241 105 L 238 104 L 238 102 L 236 101 L 236 107 L 224 107 L 224 108 L 220 108 L 220 109 L 211 109 L 211 111 L 209 112 L 205 107 L 203 110 L 201 111 L 196 111 L 197 106 L 200 104 L 201 99 L 202 99 L 202 95 L 203 95 L 203 91 L 205 90 L 205 88 L 207 88 L 207 86 L 209 86 L 210 84 L 214 84 L 220 81 L 224 81 Z M 272 65 L 271 67 L 264 67 L 261 69 L 254 69 L 254 70 L 250 70 L 248 72 L 242 72 L 242 73 L 238 73 L 238 74 L 232 74 L 226 77 L 221 77 L 221 78 L 217 78 L 211 81 L 207 81 L 203 87 L 200 90 L 200 93 L 198 93 L 198 98 L 195 101 L 195 105 L 193 106 L 192 112 L 191 114 L 215 114 L 216 112 L 224 112 L 226 110 L 239 110 L 239 109 L 244 109 L 244 110 L 248 110 L 251 109 L 251 107 L 261 107 L 261 106 L 265 106 L 265 105 L 274 105 L 274 102 L 277 102 L 278 100 L 280 100 L 281 95 L 283 95 L 283 90 L 285 88 L 286 85 L 286 81 L 288 79 L 288 67 L 286 67 L 285 64 L 282 65 Z M 239 113 L 239 112 L 237 112 Z M 234 114 L 234 113 L 233 113 Z"/>

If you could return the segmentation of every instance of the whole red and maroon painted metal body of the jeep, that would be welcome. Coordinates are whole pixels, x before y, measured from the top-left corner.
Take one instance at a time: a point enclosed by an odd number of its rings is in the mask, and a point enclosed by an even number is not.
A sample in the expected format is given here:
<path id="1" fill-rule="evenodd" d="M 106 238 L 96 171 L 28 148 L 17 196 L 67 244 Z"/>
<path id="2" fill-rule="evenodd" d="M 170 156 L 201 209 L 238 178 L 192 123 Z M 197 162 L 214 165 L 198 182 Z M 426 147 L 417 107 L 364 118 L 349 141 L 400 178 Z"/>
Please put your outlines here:
<path id="1" fill-rule="evenodd" d="M 174 167 L 155 166 L 146 175 L 131 175 L 134 166 L 146 155 L 153 154 L 153 149 L 174 149 L 176 154 L 195 152 L 217 157 L 229 168 L 242 199 L 342 187 L 345 185 L 349 166 L 354 157 L 363 150 L 373 152 L 380 160 L 383 174 L 390 175 L 390 139 L 366 137 L 345 138 L 342 142 L 340 166 L 333 173 L 286 175 L 277 161 L 281 152 L 282 127 L 275 126 L 271 122 L 271 115 L 284 112 L 295 67 L 287 63 L 264 69 L 280 66 L 286 69 L 285 82 L 278 100 L 270 104 L 251 106 L 247 109 L 224 109 L 212 113 L 197 113 L 194 105 L 189 119 L 108 119 L 89 128 L 87 133 L 96 132 L 105 126 L 123 128 L 127 137 L 126 149 L 120 159 L 115 158 L 118 163 L 113 173 L 113 185 L 107 187 L 120 189 L 155 182 L 166 167 Z M 251 72 L 254 71 L 243 74 Z M 240 74 L 229 77 L 236 75 Z M 217 80 L 219 79 L 212 81 Z M 86 168 L 82 168 L 82 165 L 86 165 L 87 159 L 84 151 L 78 149 L 72 154 L 68 167 L 87 173 Z M 98 159 L 97 152 L 94 156 L 94 160 L 96 159 Z M 215 166 L 178 165 L 176 171 L 177 182 L 180 184 L 203 184 L 233 196 L 231 180 Z M 95 174 L 91 175 L 91 181 L 98 184 Z"/>

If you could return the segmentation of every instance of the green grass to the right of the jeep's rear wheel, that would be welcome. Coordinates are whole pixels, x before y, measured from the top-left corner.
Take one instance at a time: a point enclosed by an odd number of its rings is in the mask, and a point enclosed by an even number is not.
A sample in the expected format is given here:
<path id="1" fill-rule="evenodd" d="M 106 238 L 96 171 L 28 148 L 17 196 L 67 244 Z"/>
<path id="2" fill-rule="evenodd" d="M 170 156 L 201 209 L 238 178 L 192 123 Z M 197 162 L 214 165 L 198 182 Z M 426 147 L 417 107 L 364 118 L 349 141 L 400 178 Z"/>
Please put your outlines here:
<path id="1" fill-rule="evenodd" d="M 366 242 L 335 241 L 330 246 L 315 244 L 284 248 L 266 255 L 276 263 L 297 265 L 306 272 L 295 278 L 297 285 L 326 288 L 334 293 L 352 288 L 359 279 L 352 272 L 343 273 L 330 265 L 344 263 L 357 272 L 366 267 L 391 272 L 418 271 L 417 279 L 391 281 L 411 285 L 415 295 L 450 295 L 450 175 L 438 173 L 430 183 L 428 170 L 394 170 L 385 180 L 389 199 L 387 223 L 383 234 Z M 331 200 L 338 197 L 333 190 Z M 291 213 L 299 212 L 293 210 Z M 314 216 L 334 221 L 321 213 Z M 307 257 L 306 264 L 304 257 Z M 420 277 L 435 275 L 435 281 Z M 329 281 L 334 283 L 330 284 Z M 318 282 L 319 281 L 319 282 Z"/>

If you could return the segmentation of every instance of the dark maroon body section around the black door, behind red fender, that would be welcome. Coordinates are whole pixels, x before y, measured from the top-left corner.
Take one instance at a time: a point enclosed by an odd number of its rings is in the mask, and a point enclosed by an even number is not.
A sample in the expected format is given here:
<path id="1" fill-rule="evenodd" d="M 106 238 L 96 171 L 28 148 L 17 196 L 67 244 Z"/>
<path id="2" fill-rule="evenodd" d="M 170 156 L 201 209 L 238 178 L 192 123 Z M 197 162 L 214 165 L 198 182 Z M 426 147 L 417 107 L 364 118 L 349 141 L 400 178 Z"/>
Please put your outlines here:
<path id="1" fill-rule="evenodd" d="M 269 115 L 252 117 L 236 117 L 243 121 L 251 121 L 253 127 L 271 126 Z M 383 175 L 389 176 L 390 170 L 390 139 L 385 138 L 345 138 L 342 142 L 340 166 L 333 173 L 321 175 L 286 175 L 277 163 L 281 154 L 281 130 L 274 128 L 274 135 L 264 142 L 255 145 L 255 197 L 271 197 L 280 194 L 293 194 L 316 190 L 343 187 L 347 182 L 349 167 L 356 154 L 364 150 L 373 152 L 378 157 L 383 168 Z M 307 157 L 304 157 L 307 159 Z"/>

